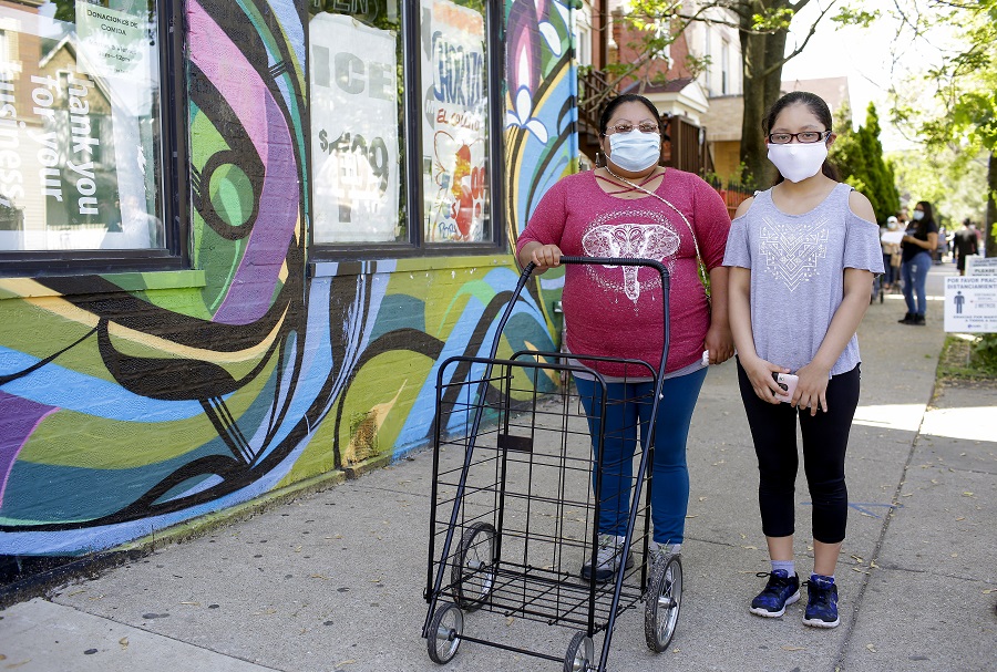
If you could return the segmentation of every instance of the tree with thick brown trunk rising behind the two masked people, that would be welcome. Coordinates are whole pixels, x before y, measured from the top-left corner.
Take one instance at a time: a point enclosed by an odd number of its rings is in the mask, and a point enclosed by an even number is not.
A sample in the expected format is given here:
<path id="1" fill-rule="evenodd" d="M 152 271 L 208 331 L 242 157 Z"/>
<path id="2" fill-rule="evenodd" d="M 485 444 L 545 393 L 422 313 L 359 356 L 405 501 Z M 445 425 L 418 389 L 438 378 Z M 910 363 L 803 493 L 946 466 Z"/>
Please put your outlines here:
<path id="1" fill-rule="evenodd" d="M 610 72 L 615 83 L 639 73 L 649 60 L 661 54 L 686 27 L 693 21 L 729 25 L 738 30 L 743 56 L 744 115 L 741 122 L 741 163 L 744 178 L 756 186 L 764 186 L 773 168 L 767 161 L 762 120 L 781 93 L 782 66 L 806 46 L 818 25 L 839 3 L 831 0 L 805 31 L 805 38 L 790 53 L 785 53 L 789 28 L 796 13 L 810 0 L 635 0 L 626 21 L 643 31 L 637 49 L 639 56 L 617 64 Z M 839 7 L 833 18 L 839 23 L 868 24 L 875 12 L 856 12 Z M 666 25 L 669 30 L 661 30 Z M 690 70 L 705 62 L 692 63 Z"/>

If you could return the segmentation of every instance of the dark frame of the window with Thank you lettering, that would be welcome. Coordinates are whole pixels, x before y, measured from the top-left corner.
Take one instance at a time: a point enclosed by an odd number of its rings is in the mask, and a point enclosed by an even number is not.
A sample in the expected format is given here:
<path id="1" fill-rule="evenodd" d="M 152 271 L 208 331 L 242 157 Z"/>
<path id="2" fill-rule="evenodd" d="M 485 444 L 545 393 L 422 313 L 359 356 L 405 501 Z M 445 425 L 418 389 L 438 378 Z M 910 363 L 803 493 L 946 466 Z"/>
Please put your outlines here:
<path id="1" fill-rule="evenodd" d="M 0 250 L 0 277 L 47 277 L 191 268 L 193 203 L 187 151 L 187 40 L 183 0 L 156 0 L 160 43 L 160 185 L 164 248 Z"/>

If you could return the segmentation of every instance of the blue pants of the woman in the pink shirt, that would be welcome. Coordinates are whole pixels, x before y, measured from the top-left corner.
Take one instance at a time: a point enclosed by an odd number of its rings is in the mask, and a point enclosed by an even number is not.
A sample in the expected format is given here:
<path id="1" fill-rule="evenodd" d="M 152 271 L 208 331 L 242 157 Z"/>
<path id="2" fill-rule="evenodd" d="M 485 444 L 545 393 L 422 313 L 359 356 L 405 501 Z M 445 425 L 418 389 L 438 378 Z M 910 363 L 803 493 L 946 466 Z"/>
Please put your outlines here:
<path id="1" fill-rule="evenodd" d="M 707 370 L 667 379 L 655 421 L 655 462 L 651 465 L 651 523 L 658 544 L 681 544 L 689 508 L 689 469 L 686 466 L 686 440 L 692 410 L 706 380 Z M 603 475 L 599 497 L 599 534 L 623 536 L 630 515 L 634 488 L 634 454 L 637 428 L 640 445 L 646 446 L 654 384 L 608 383 L 606 426 L 602 427 L 602 386 L 576 378 L 578 395 L 588 416 L 593 453 L 598 462 L 598 437 L 603 435 Z M 593 473 L 593 490 L 596 474 Z"/>

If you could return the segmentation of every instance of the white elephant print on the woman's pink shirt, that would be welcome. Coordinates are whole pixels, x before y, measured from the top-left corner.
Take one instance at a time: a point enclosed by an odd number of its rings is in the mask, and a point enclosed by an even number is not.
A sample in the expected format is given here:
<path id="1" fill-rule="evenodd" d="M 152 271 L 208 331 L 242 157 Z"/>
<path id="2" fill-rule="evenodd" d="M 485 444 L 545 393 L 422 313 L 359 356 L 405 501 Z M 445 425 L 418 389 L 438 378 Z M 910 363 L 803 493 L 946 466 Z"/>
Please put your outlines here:
<path id="1" fill-rule="evenodd" d="M 638 224 L 648 221 L 649 224 Z M 589 257 L 621 257 L 625 259 L 654 259 L 672 269 L 674 255 L 681 240 L 662 213 L 655 210 L 626 210 L 607 213 L 596 218 L 582 236 L 582 249 Z M 598 272 L 595 267 L 586 267 L 592 278 L 611 292 L 623 292 L 630 301 L 637 303 L 641 285 L 637 279 L 639 266 L 606 266 L 602 268 L 621 269 L 619 276 L 605 271 Z M 614 280 L 618 277 L 619 281 Z M 652 279 L 644 281 L 645 289 L 661 286 L 661 277 L 655 272 Z"/>

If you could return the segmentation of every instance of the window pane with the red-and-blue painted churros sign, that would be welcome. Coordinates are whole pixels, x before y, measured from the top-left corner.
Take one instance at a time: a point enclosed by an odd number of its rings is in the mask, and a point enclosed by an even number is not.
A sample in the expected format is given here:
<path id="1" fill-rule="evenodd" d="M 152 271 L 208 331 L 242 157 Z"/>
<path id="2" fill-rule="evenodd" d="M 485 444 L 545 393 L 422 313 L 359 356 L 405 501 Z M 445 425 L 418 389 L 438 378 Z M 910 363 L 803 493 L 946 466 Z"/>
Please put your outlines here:
<path id="1" fill-rule="evenodd" d="M 492 240 L 483 0 L 421 0 L 426 242 Z"/>

